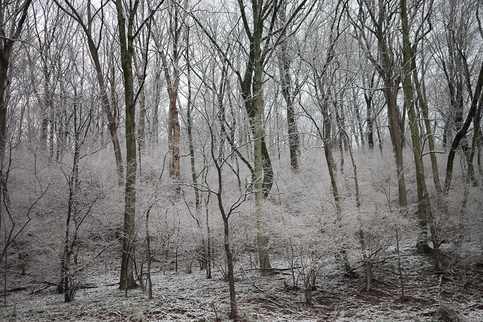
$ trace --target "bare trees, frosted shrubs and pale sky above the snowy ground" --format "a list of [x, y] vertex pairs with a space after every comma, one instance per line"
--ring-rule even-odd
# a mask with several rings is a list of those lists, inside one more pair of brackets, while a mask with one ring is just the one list
[[1, 1], [4, 305], [100, 267], [149, 300], [220, 276], [232, 319], [247, 270], [309, 308], [327, 279], [478, 294], [482, 5]]

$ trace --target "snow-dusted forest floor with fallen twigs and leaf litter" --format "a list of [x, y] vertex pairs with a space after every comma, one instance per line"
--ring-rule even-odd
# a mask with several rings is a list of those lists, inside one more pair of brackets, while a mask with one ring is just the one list
[[[464, 321], [483, 321], [483, 265], [443, 276], [432, 273], [432, 259], [407, 250], [402, 256], [405, 301], [394, 256], [382, 263], [374, 275], [370, 292], [363, 290], [359, 278], [343, 279], [337, 267], [322, 269], [313, 292], [311, 307], [306, 307], [302, 290], [287, 290], [291, 285], [287, 271], [261, 276], [249, 265], [237, 265], [236, 291], [241, 321], [431, 321], [443, 304], [454, 309]], [[273, 266], [282, 263], [272, 263]], [[153, 296], [149, 301], [141, 289], [118, 289], [119, 267], [114, 263], [90, 271], [86, 283], [97, 287], [80, 289], [73, 302], [64, 303], [55, 287], [40, 292], [41, 281], [11, 273], [8, 276], [7, 306], [0, 306], [0, 321], [227, 321], [228, 283], [219, 271], [205, 278], [204, 271], [193, 267], [174, 273], [156, 263], [152, 269]], [[302, 282], [299, 282], [302, 284]], [[15, 290], [16, 287], [24, 287]], [[3, 287], [2, 287], [3, 291]], [[3, 293], [3, 292], [2, 292]], [[2, 301], [3, 302], [3, 301]], [[215, 313], [216, 310], [216, 313]]]

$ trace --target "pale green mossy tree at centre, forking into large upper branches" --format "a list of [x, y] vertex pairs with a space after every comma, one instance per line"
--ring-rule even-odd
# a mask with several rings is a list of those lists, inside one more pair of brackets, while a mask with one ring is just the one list
[[[307, 0], [302, 0], [291, 6], [291, 12], [287, 15], [285, 23], [276, 28], [275, 23], [281, 6], [286, 5], [284, 1], [260, 1], [251, 0], [252, 16], [246, 13], [245, 3], [238, 1], [238, 6], [241, 14], [241, 21], [243, 23], [244, 34], [248, 39], [249, 47], [246, 52], [245, 70], [243, 73], [235, 66], [235, 60], [231, 60], [214, 35], [203, 26], [201, 21], [192, 13], [188, 13], [196, 23], [201, 27], [203, 33], [213, 43], [215, 48], [221, 54], [223, 59], [227, 62], [229, 67], [237, 75], [241, 87], [241, 97], [243, 99], [245, 109], [249, 118], [251, 131], [254, 140], [254, 166], [242, 158], [241, 153], [234, 149], [241, 160], [247, 165], [252, 173], [256, 215], [258, 221], [258, 248], [259, 248], [259, 262], [262, 268], [270, 268], [270, 261], [268, 259], [268, 241], [265, 236], [265, 223], [263, 211], [263, 199], [268, 196], [268, 193], [273, 184], [273, 170], [272, 163], [268, 154], [268, 149], [264, 140], [263, 123], [263, 75], [265, 67], [273, 55], [275, 49], [280, 44], [282, 37], [285, 35], [287, 27], [293, 23], [299, 13], [310, 11], [315, 1], [308, 7], [305, 7]], [[232, 145], [233, 142], [230, 142]], [[233, 148], [233, 145], [232, 145]]]

